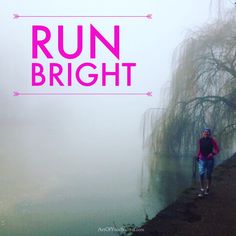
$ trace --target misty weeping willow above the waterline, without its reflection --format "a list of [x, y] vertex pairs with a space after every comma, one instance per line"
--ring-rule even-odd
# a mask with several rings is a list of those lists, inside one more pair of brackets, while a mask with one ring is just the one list
[[164, 156], [195, 152], [204, 127], [221, 146], [233, 145], [236, 129], [236, 15], [191, 33], [176, 50], [166, 110], [152, 132], [155, 151]]

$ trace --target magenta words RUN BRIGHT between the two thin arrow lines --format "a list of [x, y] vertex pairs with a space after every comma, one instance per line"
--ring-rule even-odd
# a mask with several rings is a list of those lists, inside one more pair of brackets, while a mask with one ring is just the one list
[[[42, 37], [43, 35], [43, 37]], [[89, 59], [97, 58], [97, 41], [100, 41], [106, 49], [112, 54], [116, 60], [120, 60], [120, 27], [114, 26], [114, 43], [113, 45], [91, 24], [89, 35]], [[78, 83], [81, 86], [92, 86], [100, 79], [100, 84], [106, 86], [108, 77], [112, 76], [115, 86], [120, 85], [120, 75], [125, 77], [127, 86], [131, 86], [132, 81], [132, 69], [136, 67], [136, 63], [113, 63], [111, 69], [111, 63], [102, 62], [96, 65], [90, 61], [74, 65], [73, 59], [78, 59], [83, 52], [83, 26], [77, 26], [77, 39], [76, 49], [74, 52], [69, 53], [65, 50], [64, 42], [64, 27], [58, 26], [57, 32], [57, 44], [55, 41], [51, 41], [51, 31], [48, 27], [42, 25], [32, 26], [32, 59], [36, 62], [32, 63], [32, 86], [43, 85], [59, 85], [59, 86], [72, 86], [74, 83]], [[39, 52], [41, 57], [46, 57], [47, 60], [53, 60], [53, 53], [55, 54], [55, 48], [52, 45], [57, 46], [56, 53], [63, 59], [66, 59], [66, 63], [58, 63], [50, 61], [45, 66], [40, 63]], [[49, 47], [51, 46], [51, 47]], [[50, 51], [51, 50], [51, 51]], [[40, 57], [40, 58], [41, 58]], [[113, 58], [113, 60], [114, 60]], [[69, 61], [68, 61], [69, 60]], [[61, 61], [61, 60], [60, 60]], [[109, 68], [108, 68], [109, 67]], [[92, 73], [91, 73], [92, 72]]]

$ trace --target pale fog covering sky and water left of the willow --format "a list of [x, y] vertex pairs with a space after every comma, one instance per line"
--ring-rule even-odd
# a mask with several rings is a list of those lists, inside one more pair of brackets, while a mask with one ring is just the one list
[[[214, 17], [210, 1], [0, 1], [0, 232], [2, 235], [96, 235], [98, 227], [140, 224], [162, 207], [158, 196], [143, 199], [142, 116], [162, 101], [172, 53], [191, 29]], [[213, 10], [212, 10], [213, 9]], [[127, 18], [22, 18], [20, 15], [146, 15]], [[68, 50], [76, 26], [84, 27], [84, 52], [73, 65], [89, 61], [89, 25], [112, 42], [120, 25], [120, 62], [135, 62], [132, 86], [96, 84], [85, 88], [31, 86], [32, 25], [56, 35], [64, 25]], [[111, 33], [112, 32], [112, 33]], [[52, 38], [53, 40], [53, 38]], [[67, 61], [50, 44], [55, 62]], [[43, 55], [40, 62], [49, 63]], [[95, 64], [117, 62], [100, 45]], [[20, 92], [153, 92], [147, 96], [19, 96]]]

